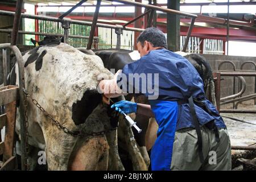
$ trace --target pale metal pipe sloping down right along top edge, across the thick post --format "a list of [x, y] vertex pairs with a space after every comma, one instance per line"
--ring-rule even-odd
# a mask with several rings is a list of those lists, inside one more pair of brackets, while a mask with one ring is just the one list
[[154, 5], [147, 5], [147, 4], [143, 4], [143, 3], [139, 3], [139, 2], [133, 2], [133, 1], [129, 1], [129, 0], [108, 0], [108, 1], [119, 2], [119, 3], [126, 4], [126, 5], [146, 7], [147, 9], [153, 9], [153, 10], [162, 11], [162, 12], [165, 12], [165, 13], [183, 15], [183, 16], [187, 16], [187, 17], [190, 17], [190, 18], [197, 18], [197, 15], [195, 15], [195, 14], [185, 13], [183, 11], [167, 9], [167, 8], [164, 8], [164, 7], [159, 7], [159, 6], [154, 6]]

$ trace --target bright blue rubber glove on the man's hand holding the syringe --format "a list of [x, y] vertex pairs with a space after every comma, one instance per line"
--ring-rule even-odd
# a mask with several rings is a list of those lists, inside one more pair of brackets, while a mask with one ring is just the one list
[[137, 112], [137, 103], [135, 102], [130, 102], [130, 101], [119, 101], [116, 102], [111, 106], [111, 108], [114, 108], [116, 111], [119, 111], [121, 113], [121, 110], [125, 114], [130, 114], [130, 113], [136, 113]]

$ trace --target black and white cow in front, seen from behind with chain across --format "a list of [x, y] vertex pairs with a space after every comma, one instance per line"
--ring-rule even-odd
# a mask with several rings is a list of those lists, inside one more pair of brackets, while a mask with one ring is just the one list
[[[102, 95], [96, 90], [98, 77], [102, 74], [113, 77], [100, 57], [86, 55], [68, 44], [51, 43], [27, 51], [23, 61], [27, 92], [62, 126], [81, 133], [109, 131], [99, 136], [73, 137], [55, 126], [28, 100], [28, 144], [30, 148], [46, 151], [48, 169], [125, 169], [118, 155], [117, 130], [110, 131], [122, 117], [102, 102]], [[15, 65], [9, 77], [10, 84], [19, 84], [17, 73]], [[130, 127], [120, 122], [121, 125], [128, 148], [138, 154], [133, 156], [134, 168], [146, 169], [140, 151], [132, 144]], [[19, 126], [18, 110], [18, 135]]]

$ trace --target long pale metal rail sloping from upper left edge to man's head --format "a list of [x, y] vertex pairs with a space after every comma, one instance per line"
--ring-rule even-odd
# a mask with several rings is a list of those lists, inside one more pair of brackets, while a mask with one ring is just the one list
[[[14, 12], [11, 11], [3, 11], [0, 10], [0, 15], [7, 15], [7, 16], [14, 16]], [[29, 18], [29, 19], [40, 19], [40, 20], [49, 20], [53, 22], [61, 22], [61, 19], [51, 17], [51, 16], [41, 16], [41, 15], [30, 15], [30, 14], [21, 14], [22, 18]], [[81, 20], [74, 20], [74, 19], [67, 19], [68, 22], [70, 23], [75, 23], [75, 24], [84, 24], [84, 25], [92, 25], [92, 22], [86, 22], [86, 21], [81, 21]], [[105, 28], [119, 28], [118, 25], [112, 25], [112, 24], [104, 24], [104, 23], [97, 23], [98, 27], [105, 27]], [[125, 30], [131, 30], [131, 31], [144, 31], [142, 28], [134, 28], [134, 27], [125, 27], [123, 28]]]

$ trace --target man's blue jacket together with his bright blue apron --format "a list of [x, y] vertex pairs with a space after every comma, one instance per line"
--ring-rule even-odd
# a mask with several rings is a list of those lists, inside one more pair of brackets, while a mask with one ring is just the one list
[[[122, 73], [126, 75], [127, 88], [135, 85], [135, 78], [129, 79], [129, 73], [159, 74], [158, 83], [151, 79], [154, 88], [159, 87], [159, 96], [155, 100], [149, 99], [159, 126], [157, 139], [151, 150], [152, 170], [170, 170], [175, 131], [195, 127], [191, 121], [189, 104], [177, 104], [177, 101], [187, 100], [191, 96], [200, 98], [211, 111], [209, 115], [207, 111], [195, 105], [200, 126], [214, 121], [218, 129], [226, 128], [216, 108], [205, 98], [203, 80], [199, 73], [183, 56], [167, 49], [156, 49], [141, 59], [126, 64]], [[122, 78], [118, 77], [118, 82], [121, 80]], [[137, 87], [133, 90], [139, 90], [146, 97], [152, 94], [151, 92], [143, 93], [141, 84]]]

